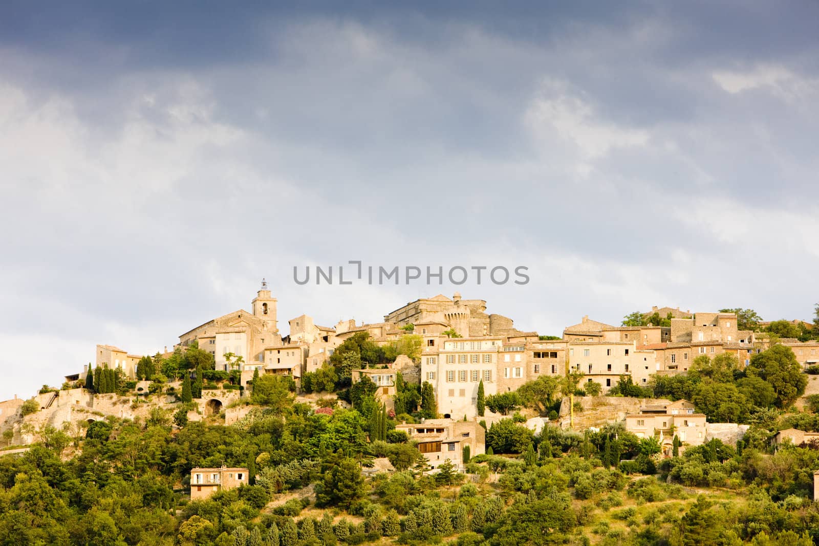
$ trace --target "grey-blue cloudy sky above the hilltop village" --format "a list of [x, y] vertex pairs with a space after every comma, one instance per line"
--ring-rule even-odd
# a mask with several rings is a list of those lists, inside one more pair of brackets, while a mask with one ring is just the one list
[[[812, 318], [817, 2], [438, 3], [3, 2], [0, 399], [261, 278], [285, 331], [455, 290]], [[351, 259], [531, 281], [293, 282]]]

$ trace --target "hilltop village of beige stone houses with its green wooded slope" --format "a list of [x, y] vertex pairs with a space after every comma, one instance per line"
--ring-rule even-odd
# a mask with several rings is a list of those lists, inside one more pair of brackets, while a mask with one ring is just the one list
[[[737, 504], [731, 544], [813, 544], [812, 323], [654, 307], [550, 336], [455, 292], [379, 323], [302, 314], [284, 333], [265, 282], [249, 309], [152, 355], [97, 345], [61, 388], [0, 402], [0, 494], [38, 472], [66, 514], [97, 507], [49, 481], [65, 465], [102, 497], [142, 499], [58, 536], [26, 508], [27, 529], [2, 514], [0, 529], [20, 544], [77, 544], [100, 518], [110, 540], [84, 544], [719, 544], [697, 495], [722, 488], [784, 518], [750, 528]], [[129, 527], [143, 509], [156, 532]]]

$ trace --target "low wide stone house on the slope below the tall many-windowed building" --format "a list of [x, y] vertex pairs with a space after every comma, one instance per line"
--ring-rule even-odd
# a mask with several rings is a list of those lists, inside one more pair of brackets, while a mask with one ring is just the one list
[[426, 419], [417, 424], [396, 425], [396, 431], [404, 431], [409, 440], [415, 440], [418, 450], [437, 468], [450, 460], [456, 467], [464, 466], [464, 446], [469, 446], [469, 456], [486, 452], [486, 431], [474, 421], [455, 419]]

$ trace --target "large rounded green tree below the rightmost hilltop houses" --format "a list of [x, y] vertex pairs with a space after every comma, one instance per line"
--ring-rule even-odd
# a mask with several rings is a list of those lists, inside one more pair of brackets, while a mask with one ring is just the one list
[[760, 377], [771, 384], [779, 408], [793, 404], [808, 386], [808, 378], [803, 374], [794, 351], [785, 345], [773, 345], [762, 353], [754, 354], [745, 373], [748, 377]]

